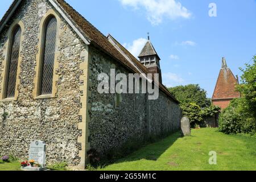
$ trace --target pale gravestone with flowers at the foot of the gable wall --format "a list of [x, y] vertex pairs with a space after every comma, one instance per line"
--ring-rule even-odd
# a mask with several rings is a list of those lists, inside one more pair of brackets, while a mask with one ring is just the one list
[[42, 141], [34, 141], [30, 143], [29, 158], [28, 160], [35, 160], [36, 163], [40, 164], [40, 168], [35, 167], [24, 167], [24, 171], [44, 171], [46, 170], [46, 143]]

